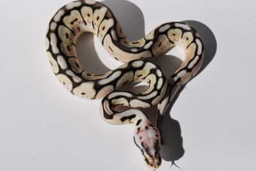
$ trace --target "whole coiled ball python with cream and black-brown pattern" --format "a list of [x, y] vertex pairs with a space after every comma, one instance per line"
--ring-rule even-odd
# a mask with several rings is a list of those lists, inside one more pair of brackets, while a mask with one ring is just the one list
[[[108, 54], [124, 64], [116, 70], [95, 75], [84, 70], [76, 55], [77, 38], [85, 32], [95, 34]], [[172, 47], [184, 49], [185, 59], [170, 77], [151, 61]], [[129, 40], [107, 6], [85, 0], [68, 3], [58, 10], [47, 27], [45, 47], [52, 70], [72, 94], [88, 99], [103, 98], [102, 118], [111, 124], [133, 123], [134, 143], [149, 168], [161, 165], [161, 135], [140, 108], [157, 105], [163, 115], [182, 85], [198, 72], [204, 61], [204, 45], [193, 27], [167, 22], [137, 41]], [[142, 93], [121, 91], [125, 85], [146, 82]], [[117, 110], [116, 107], [132, 107]]]

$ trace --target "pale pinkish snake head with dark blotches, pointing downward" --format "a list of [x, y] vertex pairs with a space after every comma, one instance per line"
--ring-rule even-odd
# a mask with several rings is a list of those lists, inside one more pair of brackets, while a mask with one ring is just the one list
[[160, 133], [152, 124], [136, 126], [134, 143], [139, 147], [144, 161], [149, 168], [158, 168], [161, 165]]

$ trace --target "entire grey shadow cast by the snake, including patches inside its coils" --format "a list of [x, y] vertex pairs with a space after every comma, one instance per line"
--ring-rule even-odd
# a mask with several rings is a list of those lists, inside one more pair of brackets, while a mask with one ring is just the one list
[[[139, 38], [145, 36], [144, 16], [136, 4], [126, 0], [106, 0], [101, 1], [100, 3], [106, 4], [106, 6], [108, 6], [113, 13], [115, 13], [115, 16], [119, 20], [127, 38], [130, 40], [138, 40]], [[212, 59], [214, 58], [217, 50], [216, 38], [211, 29], [209, 29], [209, 27], [202, 22], [195, 20], [184, 20], [182, 22], [194, 27], [196, 31], [198, 31], [198, 34], [200, 34], [204, 43], [205, 60], [202, 68], [196, 74], [197, 76], [199, 73], [205, 70], [207, 65], [211, 63]], [[78, 59], [83, 68], [86, 68], [86, 70], [92, 73], [106, 73], [107, 71], [110, 71], [110, 69], [104, 63], [102, 63], [97, 55], [93, 42], [94, 38], [95, 36], [92, 33], [85, 33], [79, 37], [76, 47]], [[106, 56], [109, 55], [106, 53]], [[159, 64], [159, 66], [163, 68], [167, 77], [170, 77], [182, 63], [182, 60], [180, 60], [179, 57], [170, 56], [168, 54], [152, 59], [151, 61]], [[184, 87], [185, 86], [186, 85], [184, 85]], [[170, 115], [170, 111], [172, 110], [175, 101], [179, 97], [179, 94], [182, 92], [184, 87], [182, 87], [176, 94], [172, 103], [168, 107], [168, 110], [166, 110], [166, 114], [164, 114], [163, 121], [161, 122], [160, 129], [164, 140], [164, 144], [161, 147], [161, 156], [165, 161], [179, 160], [182, 158], [185, 152], [180, 123], [179, 121], [173, 119]], [[136, 89], [137, 91], [143, 91], [145, 90], [145, 85], [139, 85], [136, 87]], [[143, 111], [148, 115], [152, 123], [156, 123], [156, 107], [145, 108]]]

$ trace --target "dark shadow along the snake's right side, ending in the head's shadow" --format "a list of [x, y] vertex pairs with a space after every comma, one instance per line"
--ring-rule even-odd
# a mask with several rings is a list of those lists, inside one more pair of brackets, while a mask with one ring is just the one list
[[[204, 63], [202, 64], [202, 67], [195, 75], [196, 77], [203, 70], [205, 70], [205, 68], [208, 66], [209, 63], [211, 63], [212, 59], [214, 58], [217, 50], [217, 41], [211, 29], [202, 22], [198, 22], [195, 20], [184, 20], [182, 22], [185, 22], [189, 26], [194, 27], [196, 31], [198, 31], [198, 34], [200, 35], [204, 43], [205, 59]], [[165, 63], [165, 65], [167, 66], [163, 66], [163, 68], [168, 67], [168, 64]], [[181, 136], [181, 128], [179, 121], [173, 119], [170, 114], [170, 111], [172, 110], [175, 101], [179, 97], [184, 87], [186, 87], [186, 84], [176, 94], [172, 103], [168, 107], [168, 110], [166, 110], [166, 114], [164, 114], [163, 121], [161, 122], [161, 133], [164, 141], [164, 144], [161, 147], [161, 156], [163, 160], [166, 161], [179, 160], [180, 158], [182, 158], [185, 152], [184, 147], [182, 145], [183, 138]]]

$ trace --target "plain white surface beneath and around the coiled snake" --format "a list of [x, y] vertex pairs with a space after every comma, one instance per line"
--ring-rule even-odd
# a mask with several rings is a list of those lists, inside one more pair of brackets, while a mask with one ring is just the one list
[[[69, 2], [1, 2], [0, 170], [150, 170], [132, 140], [131, 124], [106, 123], [99, 114], [100, 100], [73, 96], [52, 73], [45, 54], [45, 29], [54, 13]], [[168, 161], [163, 160], [157, 170], [180, 170], [170, 168], [175, 157], [186, 171], [255, 170], [256, 1], [103, 3], [132, 40], [171, 21], [187, 22], [204, 34], [208, 64], [166, 114], [172, 121], [165, 134], [173, 139], [165, 142], [170, 146], [163, 147]], [[82, 36], [77, 45], [88, 70], [100, 73], [120, 66], [92, 38], [92, 34]], [[179, 56], [179, 48], [168, 55], [155, 61], [172, 72], [177, 60], [170, 55]], [[179, 154], [182, 148], [172, 149], [179, 145], [184, 155]]]

